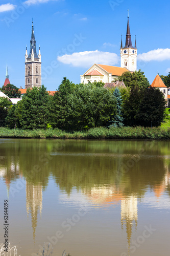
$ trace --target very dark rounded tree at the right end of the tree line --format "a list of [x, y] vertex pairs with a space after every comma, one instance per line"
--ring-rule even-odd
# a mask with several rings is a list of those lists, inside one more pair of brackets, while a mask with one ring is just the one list
[[158, 88], [144, 90], [137, 114], [141, 126], [159, 126], [165, 118], [166, 100]]

